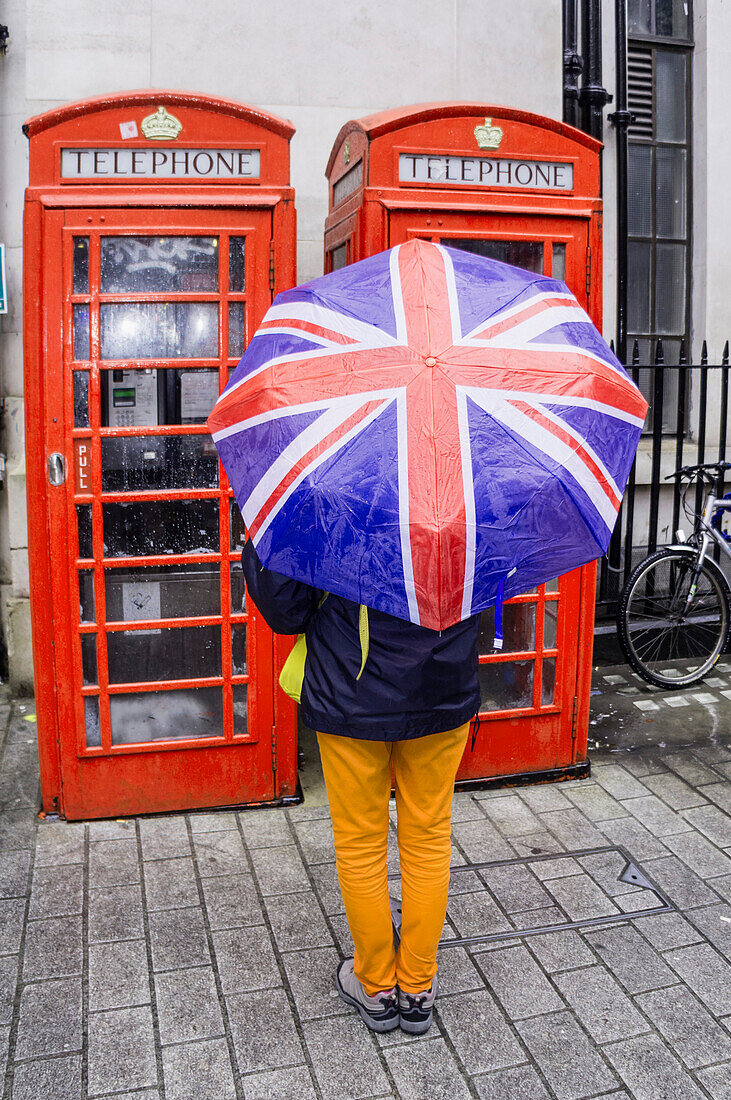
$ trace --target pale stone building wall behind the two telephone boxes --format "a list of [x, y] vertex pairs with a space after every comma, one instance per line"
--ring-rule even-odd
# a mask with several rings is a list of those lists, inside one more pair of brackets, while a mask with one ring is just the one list
[[[23, 122], [69, 101], [129, 89], [199, 91], [288, 118], [298, 217], [298, 280], [322, 273], [325, 165], [341, 125], [428, 101], [505, 105], [561, 119], [560, 0], [397, 0], [336, 7], [281, 0], [246, 9], [212, 0], [7, 0], [0, 56], [0, 241], [9, 307], [1, 318], [0, 618], [8, 672], [32, 683], [22, 353]], [[589, 6], [585, 4], [585, 8]], [[613, 0], [602, 0], [601, 80], [614, 92]], [[673, 353], [728, 332], [731, 258], [723, 78], [731, 7], [629, 0], [628, 336]], [[614, 337], [617, 129], [603, 109], [605, 334]]]

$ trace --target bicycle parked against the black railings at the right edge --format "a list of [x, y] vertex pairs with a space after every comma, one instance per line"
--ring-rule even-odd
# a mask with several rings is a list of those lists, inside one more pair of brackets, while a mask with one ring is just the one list
[[[731, 494], [718, 497], [715, 485], [731, 462], [680, 466], [665, 481], [687, 480], [683, 510], [693, 535], [655, 551], [631, 573], [619, 603], [617, 628], [627, 660], [657, 688], [699, 683], [724, 652], [731, 626], [729, 584], [709, 551], [718, 546], [731, 560], [731, 538], [722, 530]], [[708, 486], [698, 514], [686, 501], [696, 482]]]

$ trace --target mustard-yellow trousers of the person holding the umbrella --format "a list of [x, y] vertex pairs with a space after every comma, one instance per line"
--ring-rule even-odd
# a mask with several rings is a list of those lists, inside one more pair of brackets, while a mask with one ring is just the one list
[[[355, 975], [373, 996], [429, 989], [450, 886], [454, 778], [469, 723], [408, 741], [318, 734], [337, 878], [355, 944]], [[401, 944], [394, 949], [386, 849], [391, 771], [401, 861]]]

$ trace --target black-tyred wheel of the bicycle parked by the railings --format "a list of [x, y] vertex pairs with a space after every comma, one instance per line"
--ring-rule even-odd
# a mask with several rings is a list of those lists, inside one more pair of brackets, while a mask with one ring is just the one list
[[687, 612], [697, 556], [658, 550], [630, 576], [619, 604], [619, 640], [635, 672], [658, 688], [689, 688], [729, 640], [729, 591], [706, 562]]

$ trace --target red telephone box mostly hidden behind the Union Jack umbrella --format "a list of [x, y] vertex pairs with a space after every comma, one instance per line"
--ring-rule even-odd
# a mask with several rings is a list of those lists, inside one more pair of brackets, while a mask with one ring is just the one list
[[[527, 111], [431, 103], [345, 123], [328, 163], [325, 271], [422, 238], [565, 280], [601, 327], [599, 142]], [[457, 780], [588, 772], [595, 565], [484, 612], [484, 711]]]

